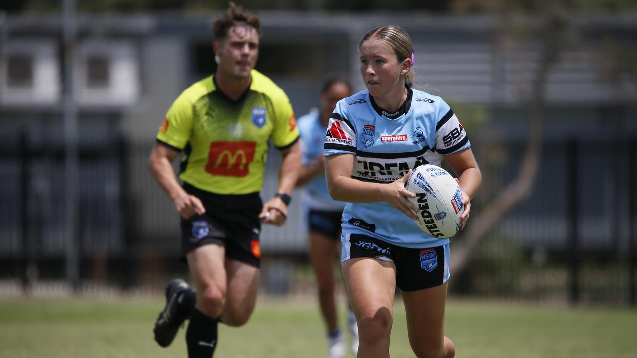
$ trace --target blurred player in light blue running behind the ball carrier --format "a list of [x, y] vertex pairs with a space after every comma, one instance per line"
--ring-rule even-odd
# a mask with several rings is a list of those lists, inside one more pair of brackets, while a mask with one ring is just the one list
[[[304, 186], [303, 210], [307, 214], [310, 262], [317, 278], [318, 303], [327, 326], [329, 358], [345, 357], [346, 354], [343, 333], [338, 326], [334, 280], [334, 259], [336, 250], [340, 251], [341, 246], [339, 237], [345, 203], [334, 201], [329, 196], [323, 142], [336, 103], [351, 95], [352, 86], [345, 78], [331, 76], [323, 83], [319, 93], [320, 111], [310, 111], [297, 122], [303, 153], [297, 186]], [[347, 319], [355, 355], [358, 350], [358, 327], [349, 306]]]

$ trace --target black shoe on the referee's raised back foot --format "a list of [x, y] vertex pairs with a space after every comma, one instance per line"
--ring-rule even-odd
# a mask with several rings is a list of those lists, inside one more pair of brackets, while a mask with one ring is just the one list
[[168, 282], [166, 286], [166, 307], [159, 313], [155, 329], [153, 329], [155, 341], [161, 347], [168, 347], [172, 343], [179, 326], [187, 319], [177, 312], [177, 297], [187, 289], [189, 289], [188, 283], [181, 278]]

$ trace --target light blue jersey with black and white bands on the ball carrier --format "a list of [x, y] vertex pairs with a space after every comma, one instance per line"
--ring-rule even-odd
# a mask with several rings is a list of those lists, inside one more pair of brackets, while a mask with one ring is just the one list
[[[352, 178], [391, 183], [420, 164], [440, 166], [443, 155], [469, 148], [469, 138], [443, 99], [408, 89], [402, 108], [386, 113], [364, 90], [342, 99], [328, 125], [324, 154], [354, 154]], [[372, 236], [403, 247], [449, 242], [419, 229], [389, 203], [350, 203], [343, 211], [343, 235]]]

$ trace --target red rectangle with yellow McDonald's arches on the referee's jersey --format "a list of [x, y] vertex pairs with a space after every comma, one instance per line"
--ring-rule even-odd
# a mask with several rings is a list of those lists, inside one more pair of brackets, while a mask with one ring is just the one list
[[206, 171], [213, 175], [246, 176], [256, 147], [254, 141], [213, 141]]

